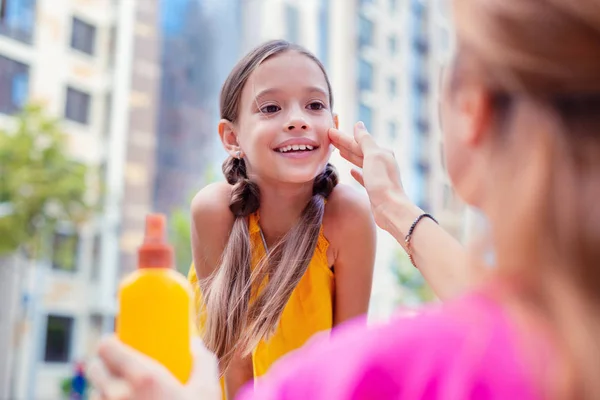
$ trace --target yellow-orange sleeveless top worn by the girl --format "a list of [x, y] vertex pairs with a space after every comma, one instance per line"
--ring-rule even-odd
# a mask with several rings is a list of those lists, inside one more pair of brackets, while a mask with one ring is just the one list
[[[250, 246], [252, 251], [251, 268], [255, 268], [265, 257], [258, 212], [248, 218]], [[252, 351], [252, 365], [255, 379], [265, 374], [281, 356], [301, 347], [311, 336], [333, 326], [334, 276], [327, 262], [329, 242], [319, 231], [317, 246], [304, 276], [292, 292], [285, 306], [279, 325], [268, 341], [262, 340]], [[190, 268], [188, 279], [194, 287], [196, 310], [203, 310], [202, 294], [194, 266]], [[199, 313], [202, 315], [202, 312]], [[198, 328], [203, 330], [204, 318], [198, 318]]]

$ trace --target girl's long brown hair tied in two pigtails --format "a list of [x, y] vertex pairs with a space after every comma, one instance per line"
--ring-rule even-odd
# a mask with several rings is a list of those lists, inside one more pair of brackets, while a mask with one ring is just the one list
[[[242, 91], [252, 72], [265, 60], [287, 51], [303, 54], [321, 68], [327, 81], [331, 109], [331, 85], [321, 62], [304, 48], [277, 40], [257, 47], [233, 69], [221, 91], [222, 118], [237, 121]], [[328, 164], [315, 178], [313, 196], [300, 220], [251, 270], [248, 216], [260, 206], [260, 190], [248, 179], [242, 158], [228, 158], [223, 163], [223, 174], [233, 186], [229, 208], [235, 215], [235, 222], [221, 265], [202, 282], [206, 304], [204, 341], [219, 358], [222, 372], [236, 351], [249, 353], [275, 329], [292, 291], [310, 263], [323, 221], [325, 199], [338, 182], [335, 168]], [[257, 293], [255, 290], [259, 285], [264, 286]]]

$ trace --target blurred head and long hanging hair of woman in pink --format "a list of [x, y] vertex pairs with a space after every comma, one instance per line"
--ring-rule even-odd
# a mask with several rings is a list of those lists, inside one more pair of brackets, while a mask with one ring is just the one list
[[[449, 175], [489, 217], [499, 271], [544, 299], [573, 359], [594, 371], [600, 350], [589, 335], [600, 327], [590, 317], [584, 328], [577, 311], [600, 306], [600, 1], [453, 3], [457, 51], [442, 101]], [[557, 287], [579, 300], [548, 295]], [[586, 306], [565, 309], [578, 302]]]

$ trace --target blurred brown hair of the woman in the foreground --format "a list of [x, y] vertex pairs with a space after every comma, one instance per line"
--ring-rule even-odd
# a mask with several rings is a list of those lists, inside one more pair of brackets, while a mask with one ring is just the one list
[[[506, 281], [508, 270], [519, 268], [511, 286], [520, 308], [541, 317], [565, 361], [561, 376], [544, 377], [540, 389], [550, 397], [600, 398], [600, 1], [454, 4], [452, 84], [482, 81], [498, 138], [535, 133], [542, 145], [533, 161], [548, 167], [537, 190], [511, 205], [523, 217], [506, 232], [518, 251], [498, 268]], [[538, 119], [519, 126], [523, 113]]]

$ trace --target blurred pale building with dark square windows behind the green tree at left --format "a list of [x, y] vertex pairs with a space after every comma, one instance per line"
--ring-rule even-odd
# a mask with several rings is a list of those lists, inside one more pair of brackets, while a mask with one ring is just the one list
[[112, 329], [115, 279], [133, 266], [151, 208], [157, 16], [154, 0], [0, 1], [0, 124], [27, 101], [44, 104], [105, 182], [102, 214], [60, 226], [49, 259], [21, 271], [2, 398], [60, 398], [73, 364]]

